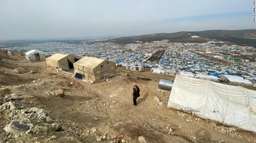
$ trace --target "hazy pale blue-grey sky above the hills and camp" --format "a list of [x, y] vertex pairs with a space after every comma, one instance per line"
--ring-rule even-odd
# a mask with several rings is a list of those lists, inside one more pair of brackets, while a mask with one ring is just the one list
[[256, 29], [252, 0], [0, 0], [0, 40]]

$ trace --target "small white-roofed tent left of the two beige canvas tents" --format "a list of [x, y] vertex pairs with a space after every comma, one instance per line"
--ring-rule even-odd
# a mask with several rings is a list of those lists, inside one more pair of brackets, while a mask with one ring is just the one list
[[29, 61], [45, 60], [45, 53], [38, 50], [31, 50], [25, 53], [25, 57]]

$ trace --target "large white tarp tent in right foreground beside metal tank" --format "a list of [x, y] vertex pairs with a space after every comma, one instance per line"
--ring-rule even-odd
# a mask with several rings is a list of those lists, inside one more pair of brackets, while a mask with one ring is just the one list
[[177, 74], [167, 106], [256, 133], [254, 90]]

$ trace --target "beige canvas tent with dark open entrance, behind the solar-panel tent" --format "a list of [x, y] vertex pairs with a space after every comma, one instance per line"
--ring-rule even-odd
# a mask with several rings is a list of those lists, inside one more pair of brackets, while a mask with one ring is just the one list
[[48, 67], [61, 68], [63, 71], [74, 68], [73, 63], [81, 59], [79, 56], [70, 54], [54, 54], [46, 58], [46, 64]]

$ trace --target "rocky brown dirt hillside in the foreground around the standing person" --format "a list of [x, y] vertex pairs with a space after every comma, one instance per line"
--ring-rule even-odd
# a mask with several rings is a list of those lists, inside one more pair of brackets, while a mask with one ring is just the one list
[[167, 108], [170, 92], [158, 81], [175, 77], [117, 68], [108, 81], [90, 84], [0, 52], [1, 143], [256, 142], [252, 133]]

